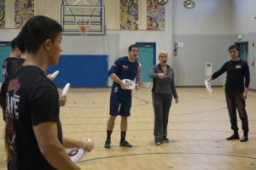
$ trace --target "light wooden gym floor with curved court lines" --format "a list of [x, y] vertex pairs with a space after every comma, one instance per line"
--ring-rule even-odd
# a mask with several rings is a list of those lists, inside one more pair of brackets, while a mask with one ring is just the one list
[[[79, 161], [91, 170], [250, 170], [256, 169], [256, 92], [249, 91], [247, 115], [249, 141], [227, 141], [232, 133], [223, 88], [177, 88], [180, 102], [172, 102], [169, 116], [170, 143], [154, 145], [154, 112], [149, 88], [133, 93], [126, 139], [131, 149], [119, 147], [116, 120], [111, 149], [103, 147], [106, 138], [110, 88], [74, 88], [67, 105], [61, 108], [65, 136], [95, 141], [95, 149]], [[239, 118], [238, 118], [239, 119]], [[0, 131], [3, 132], [3, 120]], [[238, 122], [241, 128], [241, 122]], [[242, 132], [240, 131], [240, 136]], [[3, 133], [0, 137], [0, 170], [6, 169]]]

